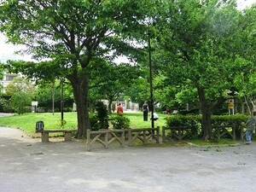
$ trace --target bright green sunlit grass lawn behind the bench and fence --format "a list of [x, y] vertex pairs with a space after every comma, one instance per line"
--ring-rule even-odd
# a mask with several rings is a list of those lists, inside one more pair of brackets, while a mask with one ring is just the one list
[[[113, 113], [115, 115], [115, 113]], [[64, 129], [76, 129], [77, 113], [64, 113], [64, 120], [67, 122]], [[131, 120], [132, 128], [149, 128], [151, 127], [151, 120], [148, 115], [148, 121], [143, 121], [143, 113], [124, 113], [124, 116]], [[159, 114], [160, 119], [154, 121], [154, 127], [166, 125], [166, 114]], [[15, 114], [14, 116], [0, 118], [0, 125], [9, 127], [20, 127], [23, 130], [34, 133], [36, 129], [36, 122], [38, 120], [44, 121], [44, 129], [61, 129], [61, 113], [24, 113]], [[109, 122], [109, 125], [111, 123]]]

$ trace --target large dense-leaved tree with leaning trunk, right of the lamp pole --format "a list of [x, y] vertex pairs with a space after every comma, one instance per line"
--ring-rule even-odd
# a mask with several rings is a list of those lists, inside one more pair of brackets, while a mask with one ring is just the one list
[[177, 0], [167, 1], [155, 22], [161, 79], [177, 90], [197, 91], [205, 140], [214, 140], [211, 115], [229, 98], [227, 90], [235, 91], [233, 77], [241, 72], [233, 70], [246, 44], [241, 18], [233, 1]]

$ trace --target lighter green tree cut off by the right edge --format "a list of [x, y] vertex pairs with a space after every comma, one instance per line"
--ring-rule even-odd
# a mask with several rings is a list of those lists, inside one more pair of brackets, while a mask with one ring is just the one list
[[236, 55], [236, 66], [234, 70], [239, 70], [234, 77], [236, 86], [236, 96], [241, 99], [242, 103], [247, 103], [248, 112], [253, 114], [256, 110], [256, 72], [255, 72], [255, 39], [256, 39], [256, 5], [246, 9], [241, 20], [241, 38], [240, 55]]

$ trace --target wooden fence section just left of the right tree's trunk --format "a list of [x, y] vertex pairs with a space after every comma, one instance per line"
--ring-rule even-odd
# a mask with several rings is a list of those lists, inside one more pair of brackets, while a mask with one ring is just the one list
[[183, 137], [186, 137], [190, 133], [190, 128], [187, 126], [171, 126], [162, 128], [163, 143], [166, 143], [166, 130], [171, 131], [171, 137], [177, 138], [178, 141], [182, 141]]

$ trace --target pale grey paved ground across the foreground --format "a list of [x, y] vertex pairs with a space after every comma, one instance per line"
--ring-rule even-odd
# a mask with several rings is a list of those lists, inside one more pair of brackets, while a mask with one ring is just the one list
[[[51, 140], [51, 139], [50, 139]], [[41, 143], [0, 127], [1, 192], [255, 191], [256, 144], [236, 147]]]

